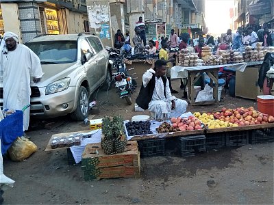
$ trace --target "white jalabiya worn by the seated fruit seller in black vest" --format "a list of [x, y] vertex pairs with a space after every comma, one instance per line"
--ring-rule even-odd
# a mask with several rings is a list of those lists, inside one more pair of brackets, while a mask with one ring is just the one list
[[[151, 71], [147, 70], [142, 76], [142, 82], [146, 87], [152, 78]], [[175, 100], [175, 109], [171, 109], [172, 102]], [[149, 111], [155, 113], [155, 120], [163, 118], [177, 118], [186, 112], [188, 102], [180, 100], [171, 95], [169, 89], [169, 81], [166, 81], [166, 96], [164, 96], [164, 82], [162, 78], [155, 77], [155, 88], [153, 91], [151, 102], [149, 102]]]

